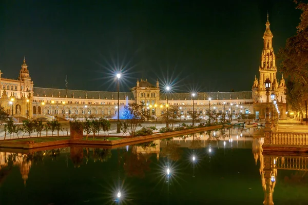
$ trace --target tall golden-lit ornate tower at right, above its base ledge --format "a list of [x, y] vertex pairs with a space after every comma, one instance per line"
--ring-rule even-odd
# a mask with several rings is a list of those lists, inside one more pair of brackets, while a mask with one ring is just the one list
[[[276, 95], [276, 99], [285, 103], [285, 84], [284, 79], [282, 78], [283, 83], [278, 83], [276, 73], [276, 57], [274, 54], [273, 48], [273, 33], [271, 29], [269, 29], [269, 21], [268, 21], [268, 13], [267, 13], [267, 21], [266, 28], [263, 34], [263, 50], [261, 54], [261, 65], [259, 66], [260, 78], [259, 81], [255, 77], [255, 81], [253, 84], [253, 99], [255, 103], [265, 103], [266, 102], [266, 91], [264, 81], [266, 78], [269, 78], [272, 81], [272, 89], [271, 92], [274, 92]], [[257, 84], [258, 82], [258, 84]], [[282, 99], [282, 101], [281, 101]]]

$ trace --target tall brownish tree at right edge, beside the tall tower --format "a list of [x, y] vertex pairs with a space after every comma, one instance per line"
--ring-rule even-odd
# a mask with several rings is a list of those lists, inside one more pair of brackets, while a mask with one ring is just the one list
[[[308, 98], [308, 4], [297, 3], [302, 11], [297, 34], [286, 40], [278, 53], [281, 72], [288, 78], [286, 98], [289, 109], [303, 116]], [[305, 108], [306, 109], [306, 108]]]

